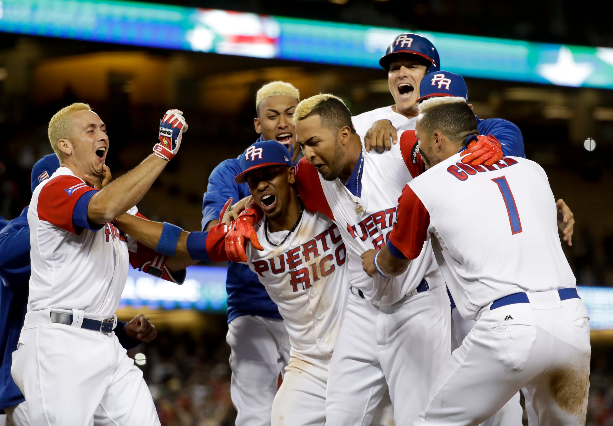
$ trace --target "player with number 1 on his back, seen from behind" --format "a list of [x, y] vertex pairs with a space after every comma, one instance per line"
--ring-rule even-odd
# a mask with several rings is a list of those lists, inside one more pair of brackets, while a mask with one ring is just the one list
[[[415, 425], [479, 424], [522, 388], [530, 424], [585, 424], [588, 313], [560, 246], [547, 175], [521, 157], [462, 162], [466, 139], [491, 139], [477, 133], [465, 99], [422, 103], [416, 135], [428, 170], [403, 190], [387, 244], [362, 256], [365, 272], [388, 280], [431, 240], [457, 309], [477, 320]], [[468, 201], [465, 191], [482, 197]], [[465, 224], [476, 217], [490, 238], [471, 235]]]

